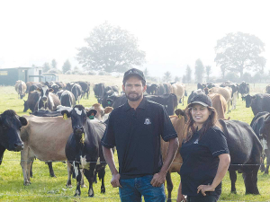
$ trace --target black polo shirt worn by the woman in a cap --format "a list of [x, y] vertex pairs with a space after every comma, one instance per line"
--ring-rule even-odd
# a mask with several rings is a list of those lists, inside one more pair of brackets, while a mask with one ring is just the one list
[[[200, 131], [192, 138], [183, 142], [180, 154], [183, 158], [180, 175], [182, 194], [187, 196], [202, 196], [197, 194], [200, 185], [211, 184], [219, 166], [219, 155], [229, 154], [226, 137], [219, 127], [210, 127], [199, 139]], [[221, 183], [215, 191], [206, 192], [209, 195], [220, 195]]]

